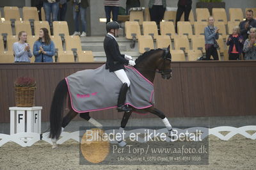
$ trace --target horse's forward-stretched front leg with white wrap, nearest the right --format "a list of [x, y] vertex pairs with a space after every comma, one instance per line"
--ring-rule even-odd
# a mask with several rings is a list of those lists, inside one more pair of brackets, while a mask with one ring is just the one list
[[[166, 118], [166, 116], [164, 115], [164, 113], [162, 111], [159, 111], [158, 109], [156, 109], [155, 107], [148, 107], [147, 109], [145, 109], [148, 112], [151, 112], [152, 114], [155, 114], [156, 116], [158, 116], [159, 118], [161, 118], [161, 120], [163, 121], [165, 127], [168, 130], [168, 137], [170, 137], [171, 139], [173, 139], [172, 137], [172, 125], [170, 124], [170, 122], [168, 121], [168, 119]], [[169, 141], [169, 140], [167, 140]]]

